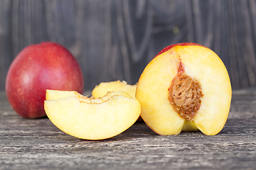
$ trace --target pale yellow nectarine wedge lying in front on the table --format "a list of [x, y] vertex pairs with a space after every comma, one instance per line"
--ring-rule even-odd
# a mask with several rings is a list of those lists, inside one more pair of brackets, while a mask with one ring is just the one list
[[46, 114], [63, 132], [85, 140], [104, 140], [119, 135], [139, 118], [141, 106], [124, 91], [102, 98], [87, 98], [76, 91], [47, 90]]

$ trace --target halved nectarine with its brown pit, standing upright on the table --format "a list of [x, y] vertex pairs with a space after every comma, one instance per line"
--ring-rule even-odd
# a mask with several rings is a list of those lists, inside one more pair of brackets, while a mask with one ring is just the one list
[[[178, 82], [181, 72], [186, 76]], [[172, 93], [172, 88], [179, 92]], [[218, 55], [203, 45], [183, 43], [166, 47], [149, 62], [136, 98], [144, 122], [159, 135], [197, 129], [215, 135], [228, 118], [231, 94], [230, 78]], [[182, 115], [181, 110], [188, 113]]]

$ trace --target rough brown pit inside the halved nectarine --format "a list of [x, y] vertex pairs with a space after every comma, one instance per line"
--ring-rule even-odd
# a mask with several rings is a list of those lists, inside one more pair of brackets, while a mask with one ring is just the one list
[[203, 97], [199, 82], [186, 74], [183, 64], [178, 66], [178, 74], [169, 87], [169, 101], [181, 118], [193, 120], [201, 106]]

